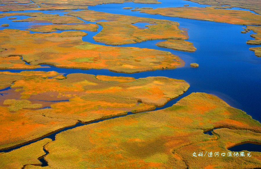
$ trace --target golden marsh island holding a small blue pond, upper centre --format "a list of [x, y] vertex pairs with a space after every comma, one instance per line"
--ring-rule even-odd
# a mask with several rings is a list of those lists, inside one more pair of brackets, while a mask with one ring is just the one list
[[[107, 20], [108, 22], [98, 22], [103, 30], [93, 37], [97, 42], [111, 45], [122, 45], [139, 43], [155, 39], [187, 39], [186, 31], [178, 28], [179, 23], [160, 19], [141, 18], [136, 16], [126, 16], [83, 10], [69, 12], [66, 15], [77, 16], [87, 21]], [[140, 29], [132, 24], [148, 23], [148, 29]], [[153, 24], [153, 25], [149, 25]]]

